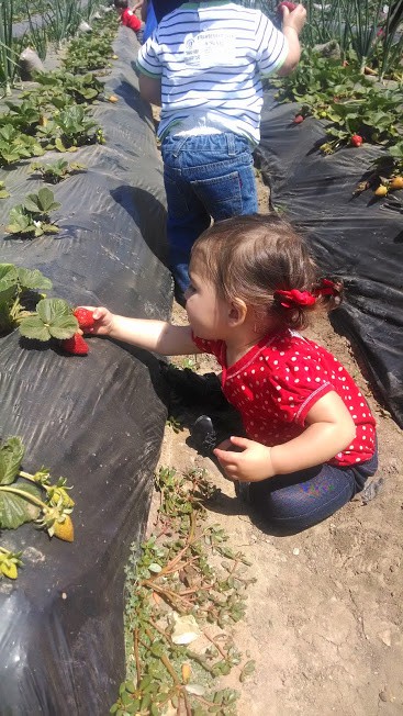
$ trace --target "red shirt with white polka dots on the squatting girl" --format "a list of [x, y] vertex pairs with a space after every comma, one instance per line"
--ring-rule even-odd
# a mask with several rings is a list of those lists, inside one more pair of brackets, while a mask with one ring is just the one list
[[203, 353], [223, 368], [222, 388], [240, 413], [247, 436], [269, 447], [298, 437], [311, 407], [331, 391], [342, 398], [356, 424], [356, 437], [328, 462], [350, 466], [369, 460], [376, 448], [376, 422], [358, 385], [336, 358], [292, 331], [265, 336], [233, 366], [222, 340], [193, 335]]

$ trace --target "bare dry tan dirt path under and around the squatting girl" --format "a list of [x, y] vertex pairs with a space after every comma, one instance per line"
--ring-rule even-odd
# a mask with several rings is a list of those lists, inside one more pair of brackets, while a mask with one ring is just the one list
[[[259, 191], [260, 211], [267, 211], [266, 190]], [[178, 305], [173, 321], [186, 321]], [[233, 483], [187, 445], [187, 429], [167, 427], [160, 465], [208, 471], [221, 491], [208, 521], [220, 523], [228, 545], [253, 562], [246, 617], [233, 629], [237, 647], [256, 660], [255, 673], [233, 684], [240, 691], [239, 716], [403, 715], [402, 430], [328, 320], [309, 335], [346, 365], [376, 414], [384, 484], [374, 500], [365, 505], [357, 496], [302, 534], [273, 537], [254, 523]], [[186, 365], [183, 358], [173, 362]], [[197, 372], [214, 369], [211, 357], [197, 357]]]

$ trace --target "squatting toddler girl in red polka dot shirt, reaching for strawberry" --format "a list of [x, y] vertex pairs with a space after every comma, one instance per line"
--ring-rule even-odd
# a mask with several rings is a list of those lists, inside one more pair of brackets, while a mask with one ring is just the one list
[[247, 483], [271, 527], [305, 529], [362, 490], [377, 470], [376, 422], [361, 391], [327, 350], [303, 337], [336, 284], [317, 280], [304, 243], [276, 215], [214, 224], [195, 242], [188, 326], [125, 318], [96, 309], [90, 331], [163, 355], [210, 353], [247, 437], [214, 456]]

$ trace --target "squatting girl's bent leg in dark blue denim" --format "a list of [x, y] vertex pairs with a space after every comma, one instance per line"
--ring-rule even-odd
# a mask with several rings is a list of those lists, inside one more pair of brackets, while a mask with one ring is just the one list
[[278, 533], [292, 534], [312, 527], [333, 515], [362, 490], [374, 474], [377, 454], [359, 468], [332, 465], [311, 468], [289, 476], [253, 482], [253, 507]]

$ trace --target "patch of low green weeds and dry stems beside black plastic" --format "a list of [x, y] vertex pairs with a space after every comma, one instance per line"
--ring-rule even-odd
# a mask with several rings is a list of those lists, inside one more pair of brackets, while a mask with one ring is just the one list
[[255, 581], [249, 562], [219, 525], [203, 524], [214, 493], [204, 471], [160, 468], [156, 490], [156, 530], [127, 567], [128, 673], [111, 714], [232, 716], [238, 694], [225, 676], [236, 670], [242, 682], [255, 668], [228, 634]]

